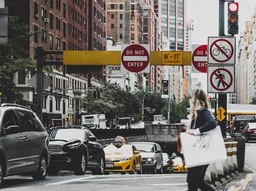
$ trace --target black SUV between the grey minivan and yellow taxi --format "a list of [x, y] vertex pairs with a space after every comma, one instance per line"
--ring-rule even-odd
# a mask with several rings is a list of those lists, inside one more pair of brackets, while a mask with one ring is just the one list
[[82, 126], [51, 128], [49, 133], [51, 163], [48, 175], [57, 175], [59, 170], [74, 171], [76, 175], [104, 174], [105, 153], [92, 132]]

